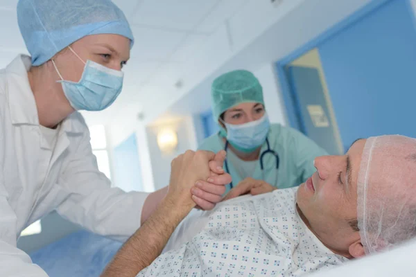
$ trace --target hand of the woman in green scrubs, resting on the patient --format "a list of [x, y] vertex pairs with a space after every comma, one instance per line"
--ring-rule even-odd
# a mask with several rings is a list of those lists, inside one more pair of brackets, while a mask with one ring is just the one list
[[223, 201], [232, 199], [234, 197], [239, 197], [241, 195], [246, 195], [248, 193], [251, 195], [271, 193], [273, 190], [277, 190], [277, 188], [268, 184], [266, 181], [256, 180], [248, 177], [241, 181], [235, 188], [229, 190], [229, 193], [225, 195]]

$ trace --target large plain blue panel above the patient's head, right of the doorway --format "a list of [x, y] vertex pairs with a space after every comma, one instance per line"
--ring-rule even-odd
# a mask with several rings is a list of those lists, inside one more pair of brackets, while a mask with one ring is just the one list
[[408, 1], [387, 1], [319, 53], [345, 146], [383, 134], [416, 137], [416, 29]]

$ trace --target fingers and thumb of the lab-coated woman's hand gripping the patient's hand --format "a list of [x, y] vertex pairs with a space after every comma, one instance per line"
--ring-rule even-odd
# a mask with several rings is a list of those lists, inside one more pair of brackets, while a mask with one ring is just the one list
[[232, 181], [231, 176], [223, 169], [226, 156], [227, 152], [224, 150], [218, 152], [214, 160], [209, 162], [209, 179], [197, 181], [196, 186], [192, 188], [193, 201], [198, 205], [196, 208], [209, 211], [223, 199], [225, 185]]

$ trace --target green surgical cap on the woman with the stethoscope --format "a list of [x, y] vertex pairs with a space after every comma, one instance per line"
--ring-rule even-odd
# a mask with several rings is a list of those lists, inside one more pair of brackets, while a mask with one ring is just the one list
[[227, 109], [244, 102], [264, 105], [263, 89], [250, 71], [236, 70], [220, 75], [212, 83], [211, 101], [216, 121]]

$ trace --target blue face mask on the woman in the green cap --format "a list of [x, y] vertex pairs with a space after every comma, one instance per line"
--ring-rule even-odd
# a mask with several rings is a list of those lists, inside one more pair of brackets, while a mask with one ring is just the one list
[[266, 141], [270, 129], [267, 114], [249, 123], [233, 125], [224, 123], [227, 127], [227, 141], [241, 152], [250, 153], [259, 148]]

